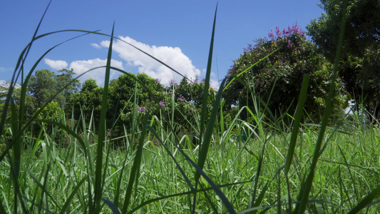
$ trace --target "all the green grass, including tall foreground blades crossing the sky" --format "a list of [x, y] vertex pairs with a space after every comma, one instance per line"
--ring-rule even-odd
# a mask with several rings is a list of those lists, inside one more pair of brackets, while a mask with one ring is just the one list
[[[215, 20], [206, 86], [210, 81]], [[109, 73], [114, 69], [128, 75], [111, 67], [112, 41], [116, 39], [113, 31], [106, 35], [70, 30], [111, 38], [105, 66], [104, 108], [97, 128], [92, 120], [83, 118], [73, 128], [60, 121], [37, 119], [42, 108], [31, 119], [24, 118], [24, 98], [31, 73], [49, 51], [61, 45], [46, 51], [24, 76], [27, 69], [23, 62], [34, 41], [60, 32], [36, 36], [37, 31], [38, 27], [19, 58], [1, 115], [1, 143], [9, 141], [0, 156], [0, 213], [376, 213], [380, 210], [379, 130], [361, 125], [346, 132], [342, 131], [344, 127], [327, 127], [331, 98], [327, 99], [321, 125], [300, 123], [302, 101], [307, 96], [307, 76], [289, 133], [279, 131], [282, 129], [278, 127], [284, 126], [281, 121], [265, 122], [263, 111], [267, 108], [260, 106], [241, 106], [226, 123], [227, 115], [220, 110], [225, 86], [222, 81], [210, 120], [205, 120], [206, 96], [201, 113], [194, 116], [200, 118], [192, 126], [192, 133], [198, 133], [200, 138], [199, 147], [192, 145], [189, 136], [175, 134], [173, 119], [165, 123], [153, 116], [138, 121], [137, 90], [133, 126], [118, 139], [107, 140], [104, 124]], [[255, 94], [250, 84], [239, 76], [234, 81], [240, 81], [247, 91]], [[18, 78], [23, 81], [20, 107], [16, 108], [11, 93]], [[141, 83], [136, 79], [136, 84]], [[330, 95], [332, 91], [334, 78]], [[265, 106], [259, 97], [253, 98]], [[248, 112], [247, 121], [240, 120], [242, 111]], [[6, 113], [10, 113], [10, 118], [6, 118]], [[163, 113], [173, 115], [173, 109]], [[41, 123], [43, 127], [37, 137], [28, 132], [32, 123]], [[52, 133], [47, 131], [48, 127], [53, 127]], [[58, 128], [66, 135], [59, 137]], [[138, 138], [137, 145], [135, 138]], [[120, 139], [125, 142], [125, 148], [113, 148], [112, 142]], [[159, 145], [154, 141], [160, 142]]]

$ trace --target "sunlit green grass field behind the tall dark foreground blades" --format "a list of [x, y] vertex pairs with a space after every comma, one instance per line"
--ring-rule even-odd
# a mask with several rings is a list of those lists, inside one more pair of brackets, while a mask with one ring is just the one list
[[[245, 213], [247, 205], [253, 203], [255, 206], [252, 208], [259, 211], [277, 213], [278, 209], [289, 208], [289, 196], [294, 207], [299, 188], [309, 172], [318, 130], [306, 126], [299, 132], [294, 162], [289, 174], [284, 176], [291, 133], [255, 132], [250, 131], [252, 127], [253, 124], [245, 121], [235, 121], [224, 133], [213, 134], [203, 171], [220, 187], [236, 211]], [[327, 131], [309, 197], [307, 209], [310, 212], [347, 213], [378, 185], [380, 132], [376, 128], [365, 131], [361, 128], [351, 128], [349, 133]], [[87, 135], [91, 136], [91, 133]], [[144, 138], [139, 173], [136, 175], [138, 179], [130, 195], [127, 213], [190, 213], [195, 191], [189, 188], [177, 164], [192, 185], [195, 170], [174, 145], [183, 148], [195, 162], [199, 148], [192, 147], [187, 136], [173, 142], [176, 137], [172, 133], [162, 130], [160, 135], [164, 136], [161, 138], [163, 144], [158, 146], [148, 141], [148, 137]], [[48, 213], [47, 210], [51, 213], [66, 213], [66, 210], [70, 210], [69, 213], [88, 212], [88, 182], [93, 179], [88, 177], [93, 176], [91, 168], [95, 168], [89, 160], [96, 159], [96, 143], [88, 144], [85, 138], [88, 144], [86, 156], [77, 139], [70, 139], [69, 145], [61, 148], [59, 142], [52, 141], [50, 136], [37, 141], [26, 137], [25, 141], [32, 145], [38, 142], [40, 146], [38, 151], [29, 146], [21, 154], [19, 190], [26, 207], [34, 207], [32, 213], [37, 213], [37, 210], [41, 213]], [[106, 145], [112, 145], [112, 141]], [[125, 142], [128, 142], [128, 137]], [[107, 159], [103, 161], [102, 198], [114, 202], [119, 195], [119, 201], [125, 200], [124, 191], [128, 188], [137, 154], [133, 146], [105, 148], [103, 157]], [[4, 160], [0, 168], [0, 198], [6, 213], [12, 213], [11, 165]], [[222, 201], [204, 178], [200, 179], [198, 191], [195, 213], [226, 212]], [[255, 198], [255, 201], [250, 198]], [[283, 205], [277, 207], [278, 200]], [[67, 208], [62, 210], [68, 202]], [[20, 205], [19, 202], [16, 204]], [[366, 209], [369, 213], [376, 213], [380, 207], [374, 203]], [[111, 210], [103, 204], [102, 212], [111, 213]]]

